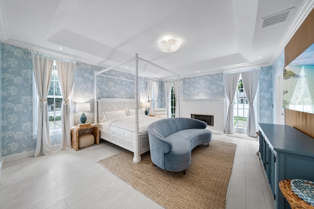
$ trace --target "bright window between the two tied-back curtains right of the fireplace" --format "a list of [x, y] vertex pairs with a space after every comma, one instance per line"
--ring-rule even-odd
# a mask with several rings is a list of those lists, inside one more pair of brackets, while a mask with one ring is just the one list
[[246, 99], [241, 76], [239, 77], [237, 91], [234, 100], [234, 126], [239, 129], [246, 129], [249, 104]]

